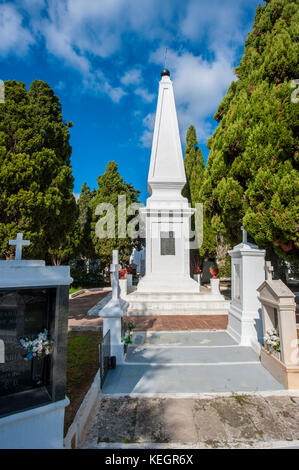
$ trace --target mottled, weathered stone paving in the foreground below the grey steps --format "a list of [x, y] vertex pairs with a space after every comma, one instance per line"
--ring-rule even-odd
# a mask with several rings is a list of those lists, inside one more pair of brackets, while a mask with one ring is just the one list
[[298, 395], [214, 399], [102, 395], [80, 447], [262, 448], [279, 441], [284, 441], [282, 447], [292, 441], [296, 446], [298, 439]]

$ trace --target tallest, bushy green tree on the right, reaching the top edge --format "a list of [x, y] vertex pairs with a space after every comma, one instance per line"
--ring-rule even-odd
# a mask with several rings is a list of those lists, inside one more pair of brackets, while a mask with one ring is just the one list
[[203, 188], [226, 240], [239, 241], [243, 224], [261, 248], [290, 261], [298, 259], [298, 24], [295, 0], [257, 8], [238, 80], [215, 115]]

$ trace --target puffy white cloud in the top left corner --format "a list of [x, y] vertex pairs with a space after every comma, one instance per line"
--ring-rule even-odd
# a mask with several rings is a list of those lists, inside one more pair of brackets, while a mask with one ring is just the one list
[[25, 55], [34, 43], [33, 36], [22, 23], [22, 16], [12, 4], [0, 5], [0, 56]]

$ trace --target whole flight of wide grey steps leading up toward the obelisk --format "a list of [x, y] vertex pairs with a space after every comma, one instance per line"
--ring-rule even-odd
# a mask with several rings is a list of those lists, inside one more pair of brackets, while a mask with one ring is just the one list
[[226, 332], [135, 335], [123, 365], [108, 372], [105, 394], [255, 392], [283, 387], [258, 355]]

